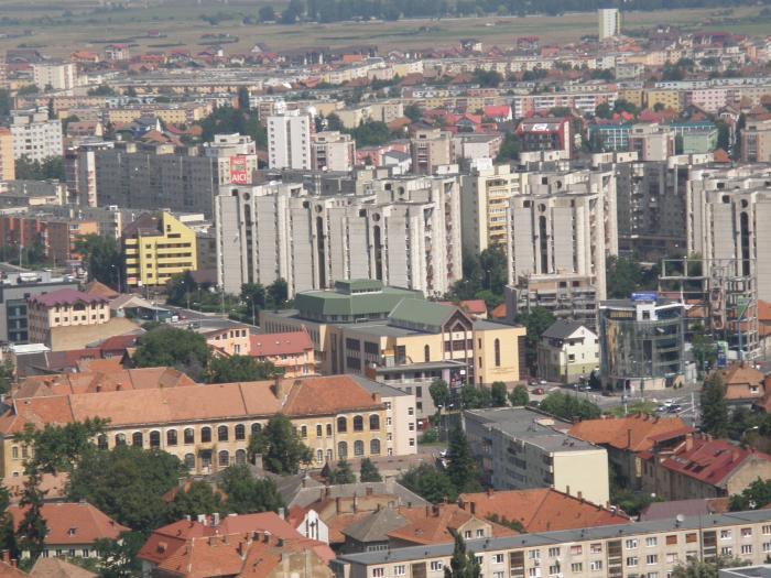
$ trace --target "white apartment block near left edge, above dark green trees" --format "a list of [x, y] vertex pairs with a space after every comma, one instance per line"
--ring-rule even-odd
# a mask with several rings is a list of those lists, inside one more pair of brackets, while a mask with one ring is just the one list
[[13, 159], [43, 162], [62, 156], [62, 121], [48, 120], [46, 110], [14, 110], [11, 114]]

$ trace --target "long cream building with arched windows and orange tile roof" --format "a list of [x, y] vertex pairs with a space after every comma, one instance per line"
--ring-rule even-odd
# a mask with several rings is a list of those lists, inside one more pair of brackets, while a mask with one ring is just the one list
[[[97, 444], [167, 451], [191, 473], [247, 462], [250, 435], [286, 415], [321, 467], [340, 458], [416, 451], [415, 397], [359, 375], [330, 375], [215, 385], [110, 388], [58, 393], [22, 389], [0, 416], [2, 472], [21, 476], [28, 449], [14, 440], [26, 424], [108, 421]], [[53, 394], [52, 394], [53, 393]]]

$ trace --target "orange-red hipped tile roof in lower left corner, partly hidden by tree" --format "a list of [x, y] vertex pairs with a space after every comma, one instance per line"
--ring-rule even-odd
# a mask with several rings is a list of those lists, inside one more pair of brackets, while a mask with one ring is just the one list
[[[19, 527], [25, 511], [25, 508], [19, 505], [8, 508], [14, 528]], [[122, 532], [130, 530], [86, 502], [44, 503], [41, 513], [48, 528], [45, 536], [48, 545], [93, 544], [99, 538], [117, 539]]]

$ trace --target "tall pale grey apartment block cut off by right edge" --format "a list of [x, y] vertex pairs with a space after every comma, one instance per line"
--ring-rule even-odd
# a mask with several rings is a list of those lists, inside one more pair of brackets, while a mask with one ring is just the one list
[[753, 277], [763, 301], [771, 299], [770, 179], [767, 166], [699, 168], [691, 172], [686, 196], [688, 253]]

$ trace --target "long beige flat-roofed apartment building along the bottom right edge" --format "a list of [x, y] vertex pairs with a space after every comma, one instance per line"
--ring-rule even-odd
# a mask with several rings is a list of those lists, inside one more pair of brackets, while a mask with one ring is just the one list
[[[771, 553], [771, 511], [678, 516], [649, 522], [468, 541], [481, 576], [492, 578], [666, 578], [691, 558], [719, 556], [764, 564]], [[337, 578], [441, 578], [454, 544], [344, 554]]]

